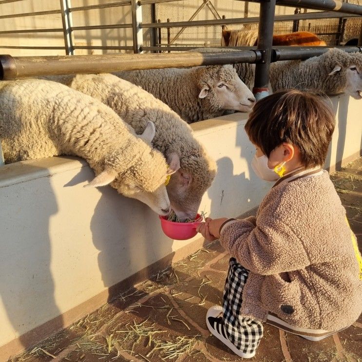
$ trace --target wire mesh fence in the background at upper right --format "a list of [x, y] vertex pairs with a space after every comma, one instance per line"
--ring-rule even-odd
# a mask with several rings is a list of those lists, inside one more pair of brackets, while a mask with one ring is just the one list
[[[362, 0], [349, 0], [361, 5]], [[301, 8], [277, 6], [275, 15], [292, 15], [315, 12]], [[259, 16], [259, 4], [239, 0], [183, 0], [155, 5], [156, 21], [192, 21], [211, 19], [250, 18]], [[293, 31], [308, 31], [319, 36], [328, 46], [343, 44], [351, 38], [358, 38], [362, 20], [359, 19], [313, 19], [274, 23], [274, 34]], [[227, 29], [257, 29], [257, 24], [228, 25]], [[161, 28], [156, 45], [173, 46], [220, 46], [222, 26], [199, 26], [185, 28]]]

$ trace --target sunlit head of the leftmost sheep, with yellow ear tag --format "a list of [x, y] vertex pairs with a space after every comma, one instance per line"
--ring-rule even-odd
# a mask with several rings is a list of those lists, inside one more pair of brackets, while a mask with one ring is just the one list
[[[117, 171], [117, 164], [122, 163], [124, 152], [115, 150], [104, 160], [104, 170], [86, 186], [111, 184], [122, 195], [145, 203], [159, 215], [167, 215], [171, 209], [165, 182], [168, 174], [175, 170], [167, 165], [161, 152], [149, 146], [153, 136], [154, 126], [149, 122], [144, 133], [139, 135], [136, 141], [133, 140], [135, 148], [143, 152], [137, 154], [132, 166], [126, 171]], [[132, 151], [132, 148], [127, 149], [127, 152], [131, 152], [131, 158], [135, 154]]]

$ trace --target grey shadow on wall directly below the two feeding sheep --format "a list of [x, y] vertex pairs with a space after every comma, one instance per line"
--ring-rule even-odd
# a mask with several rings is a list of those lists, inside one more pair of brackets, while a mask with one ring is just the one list
[[[93, 243], [99, 250], [99, 271], [104, 286], [109, 288], [110, 301], [120, 290], [128, 287], [117, 287], [119, 281], [140, 269], [150, 270], [159, 255], [168, 255], [167, 259], [172, 260], [173, 241], [164, 235], [158, 215], [147, 205], [126, 198], [110, 187], [99, 188], [99, 191], [102, 196], [95, 207], [90, 227]], [[109, 239], [110, 235], [113, 235], [113, 240]], [[135, 266], [138, 267], [134, 269]], [[140, 279], [147, 276], [146, 272], [139, 273]], [[130, 281], [130, 286], [138, 281]]]

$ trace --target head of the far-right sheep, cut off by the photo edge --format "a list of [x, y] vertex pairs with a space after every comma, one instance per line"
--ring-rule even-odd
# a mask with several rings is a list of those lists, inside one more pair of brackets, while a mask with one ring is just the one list
[[325, 55], [328, 76], [333, 77], [336, 93], [347, 93], [355, 99], [362, 98], [362, 54], [348, 54], [339, 49]]

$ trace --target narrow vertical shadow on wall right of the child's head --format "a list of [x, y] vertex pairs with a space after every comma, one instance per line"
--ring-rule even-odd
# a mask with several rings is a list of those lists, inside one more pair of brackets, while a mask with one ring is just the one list
[[[347, 132], [347, 115], [349, 105], [349, 95], [343, 94], [337, 97], [328, 98], [328, 101], [333, 105], [333, 111], [338, 119], [338, 124], [334, 132], [338, 132], [336, 159], [332, 160], [332, 143], [329, 144], [327, 158], [325, 160], [324, 168], [330, 169], [333, 165], [336, 165], [336, 171], [340, 171], [342, 168], [343, 150], [346, 141]], [[362, 141], [361, 141], [362, 142]]]

